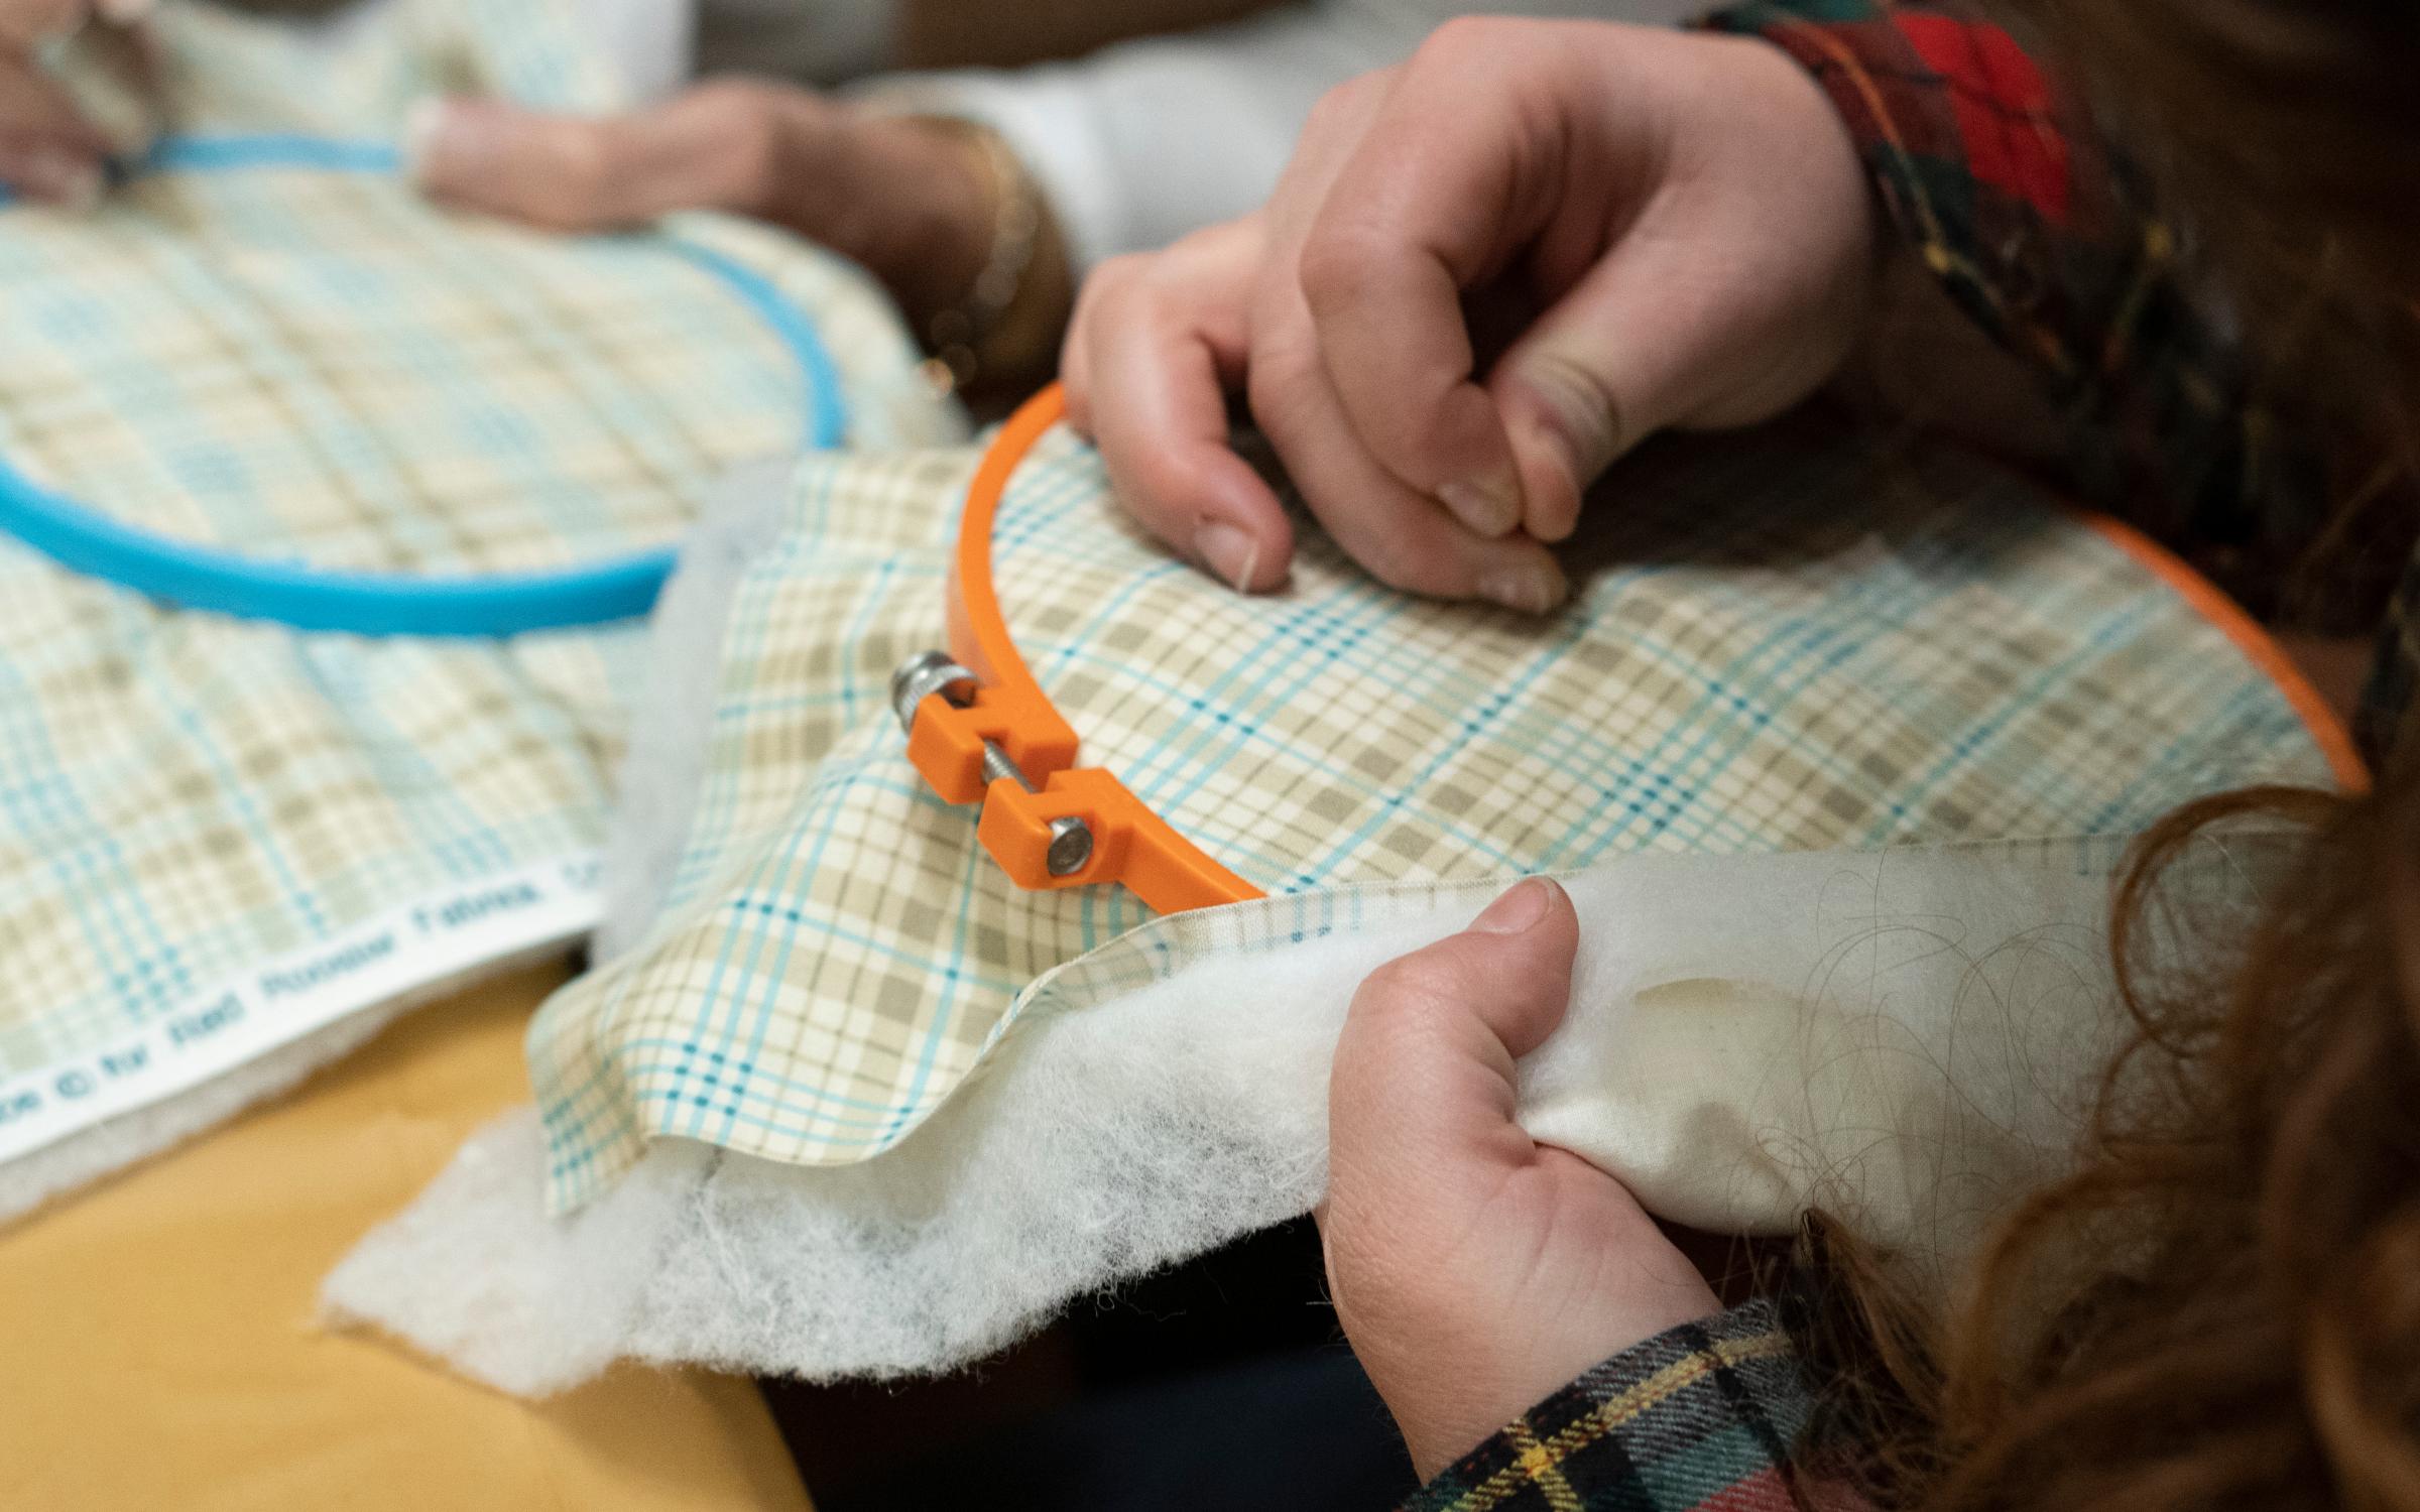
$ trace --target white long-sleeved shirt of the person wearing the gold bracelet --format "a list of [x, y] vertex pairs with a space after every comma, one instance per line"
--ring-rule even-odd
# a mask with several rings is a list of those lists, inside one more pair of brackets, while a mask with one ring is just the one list
[[[1704, 0], [1307, 0], [1246, 22], [1125, 41], [1074, 63], [881, 73], [900, 0], [586, 0], [598, 27], [651, 53], [641, 87], [748, 68], [852, 87], [898, 109], [997, 131], [1041, 181], [1079, 266], [1241, 215], [1268, 198], [1312, 104], [1343, 80], [1411, 56], [1437, 22], [1503, 15], [1677, 22]], [[658, 12], [682, 15], [663, 17]], [[692, 31], [695, 27], [695, 31]], [[680, 41], [668, 41], [680, 39]]]

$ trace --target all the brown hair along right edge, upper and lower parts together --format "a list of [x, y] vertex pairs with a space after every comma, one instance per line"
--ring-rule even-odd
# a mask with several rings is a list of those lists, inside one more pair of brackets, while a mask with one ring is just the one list
[[[1999, 10], [2098, 80], [2265, 360], [2420, 431], [2420, 5]], [[2149, 951], [2185, 927], [2163, 871], [2246, 818], [2306, 827], [2294, 885], [2251, 939]], [[2171, 815], [2115, 943], [2134, 1035], [2081, 1161], [1946, 1316], [1810, 1219], [1820, 1442], [1883, 1507], [2420, 1510], [2420, 760]]]

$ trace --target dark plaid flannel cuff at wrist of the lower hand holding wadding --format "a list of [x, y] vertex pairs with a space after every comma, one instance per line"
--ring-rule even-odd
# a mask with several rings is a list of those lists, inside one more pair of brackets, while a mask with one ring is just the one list
[[1597, 1364], [1437, 1473], [1404, 1512], [1788, 1512], [1813, 1398], [1769, 1299]]

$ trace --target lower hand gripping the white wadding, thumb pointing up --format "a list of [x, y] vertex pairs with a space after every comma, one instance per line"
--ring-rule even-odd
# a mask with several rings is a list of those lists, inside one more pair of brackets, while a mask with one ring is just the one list
[[1319, 1212], [1336, 1316], [1421, 1478], [1580, 1372], [1721, 1311], [1655, 1219], [1512, 1123], [1512, 1062], [1571, 999], [1580, 922], [1551, 881], [1353, 997]]

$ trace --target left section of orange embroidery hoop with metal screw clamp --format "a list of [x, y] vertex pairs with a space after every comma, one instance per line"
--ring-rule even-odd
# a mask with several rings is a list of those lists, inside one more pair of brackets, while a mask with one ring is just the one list
[[1067, 411], [1058, 385], [1009, 416], [966, 491], [949, 573], [949, 651], [891, 675], [908, 760], [949, 803], [980, 803], [975, 837], [1019, 888], [1125, 883], [1162, 914], [1261, 898], [1152, 813], [1116, 774], [1077, 767], [1077, 733], [1033, 682], [992, 590], [999, 496]]

